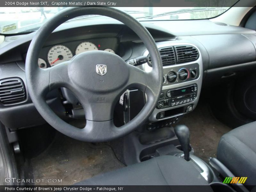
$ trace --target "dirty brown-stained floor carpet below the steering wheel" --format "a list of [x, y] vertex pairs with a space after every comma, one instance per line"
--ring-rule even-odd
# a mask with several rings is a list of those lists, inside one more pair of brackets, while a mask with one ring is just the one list
[[[72, 185], [100, 173], [124, 167], [112, 148], [69, 138], [59, 132], [53, 143], [39, 156], [29, 160], [34, 180], [44, 179], [36, 185]], [[45, 183], [48, 179], [61, 179], [62, 183]]]

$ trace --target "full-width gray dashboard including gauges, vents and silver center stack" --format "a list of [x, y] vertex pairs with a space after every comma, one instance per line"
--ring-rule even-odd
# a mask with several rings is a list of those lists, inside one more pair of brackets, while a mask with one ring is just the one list
[[[183, 114], [193, 111], [203, 87], [227, 80], [227, 74], [239, 75], [256, 69], [256, 32], [253, 30], [220, 26], [209, 20], [145, 21], [142, 24], [155, 39], [164, 64], [162, 93], [146, 124], [148, 130], [172, 124]], [[191, 33], [186, 26], [194, 26]], [[0, 121], [10, 130], [45, 123], [26, 88], [25, 60], [34, 35], [7, 36], [0, 44], [0, 86], [13, 81], [23, 89], [19, 96], [7, 99], [0, 90]], [[64, 23], [45, 40], [37, 65], [49, 68], [81, 52], [99, 50], [117, 54], [123, 60], [145, 56], [148, 62], [138, 68], [146, 72], [152, 70], [150, 55], [139, 37], [116, 21]], [[184, 54], [186, 60], [183, 60]], [[144, 101], [136, 98], [131, 103], [138, 109]], [[68, 90], [61, 89], [61, 94], [58, 90], [50, 92], [46, 100], [63, 119], [81, 113], [76, 98]], [[76, 108], [65, 114], [63, 105]], [[16, 121], [12, 120], [14, 118]]]

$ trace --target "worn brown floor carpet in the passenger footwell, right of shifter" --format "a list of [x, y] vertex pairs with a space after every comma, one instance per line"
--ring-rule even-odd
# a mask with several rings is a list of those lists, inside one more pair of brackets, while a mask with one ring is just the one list
[[218, 121], [204, 102], [199, 102], [196, 109], [179, 122], [190, 130], [190, 144], [195, 155], [209, 162], [209, 157], [216, 157], [220, 137], [231, 131], [231, 128]]

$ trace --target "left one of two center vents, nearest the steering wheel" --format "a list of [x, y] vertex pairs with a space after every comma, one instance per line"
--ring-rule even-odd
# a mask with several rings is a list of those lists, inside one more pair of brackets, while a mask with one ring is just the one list
[[[175, 64], [175, 55], [173, 47], [163, 47], [159, 49], [163, 66]], [[148, 55], [148, 64], [152, 66], [151, 58]]]

